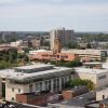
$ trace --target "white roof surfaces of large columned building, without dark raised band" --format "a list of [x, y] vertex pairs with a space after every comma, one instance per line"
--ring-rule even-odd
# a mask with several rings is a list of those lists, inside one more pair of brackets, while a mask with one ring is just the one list
[[[38, 67], [49, 67], [52, 65], [37, 65]], [[36, 66], [36, 67], [37, 67]], [[37, 68], [38, 68], [37, 67]], [[18, 67], [18, 68], [23, 68], [23, 69], [31, 69], [35, 68], [35, 65], [30, 65], [30, 66], [24, 66], [24, 67]], [[67, 67], [54, 67], [53, 69], [48, 69], [44, 71], [37, 71], [37, 72], [31, 72], [31, 73], [27, 73], [27, 72], [16, 72], [15, 69], [4, 69], [4, 70], [0, 70], [0, 76], [2, 78], [8, 78], [8, 79], [15, 79], [15, 80], [24, 80], [24, 79], [31, 79], [31, 78], [42, 78], [42, 77], [46, 77], [49, 75], [59, 75], [60, 72], [68, 72], [70, 71], [71, 68], [67, 68]]]

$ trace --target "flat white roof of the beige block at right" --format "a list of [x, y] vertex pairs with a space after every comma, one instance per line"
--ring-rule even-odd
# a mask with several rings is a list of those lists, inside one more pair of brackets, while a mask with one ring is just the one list
[[80, 67], [80, 68], [75, 68], [76, 72], [78, 73], [104, 73], [104, 72], [108, 72], [107, 69], [92, 69], [92, 68], [84, 68], [84, 67]]

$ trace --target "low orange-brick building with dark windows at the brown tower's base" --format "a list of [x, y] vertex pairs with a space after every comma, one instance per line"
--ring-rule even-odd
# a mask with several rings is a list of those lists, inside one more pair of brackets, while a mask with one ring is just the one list
[[38, 51], [30, 51], [29, 52], [30, 59], [37, 59], [37, 60], [67, 60], [71, 62], [79, 56], [77, 54], [71, 53], [53, 53], [52, 51], [44, 51], [44, 50], [38, 50]]

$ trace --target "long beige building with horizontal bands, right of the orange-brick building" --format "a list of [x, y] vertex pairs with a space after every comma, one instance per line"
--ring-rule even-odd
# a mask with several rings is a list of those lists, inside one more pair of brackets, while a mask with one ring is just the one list
[[63, 53], [72, 53], [79, 55], [82, 62], [91, 62], [91, 60], [106, 60], [107, 58], [107, 51], [106, 50], [94, 50], [94, 49], [86, 49], [86, 50], [63, 50]]

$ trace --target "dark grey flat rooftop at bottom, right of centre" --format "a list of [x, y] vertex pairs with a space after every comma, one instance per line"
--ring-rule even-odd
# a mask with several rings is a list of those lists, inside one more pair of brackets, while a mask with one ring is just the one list
[[85, 108], [85, 105], [95, 100], [95, 94], [93, 92], [73, 97], [70, 100], [53, 104], [58, 105], [58, 108]]

